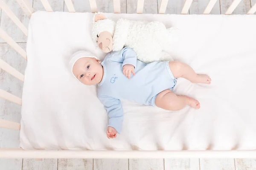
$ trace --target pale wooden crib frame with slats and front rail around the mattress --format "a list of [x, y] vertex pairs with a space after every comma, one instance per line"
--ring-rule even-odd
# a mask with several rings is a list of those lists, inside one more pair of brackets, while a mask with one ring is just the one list
[[[232, 14], [241, 0], [233, 0], [225, 14]], [[76, 12], [72, 0], [64, 0], [69, 12]], [[207, 7], [203, 14], [209, 14], [217, 0], [209, 0]], [[17, 3], [23, 9], [28, 17], [34, 12], [31, 4], [27, 0], [17, 0]], [[41, 0], [46, 11], [53, 11], [47, 0]], [[91, 12], [97, 12], [96, 0], [89, 0]], [[161, 0], [158, 13], [165, 14], [168, 0]], [[192, 4], [192, 0], [186, 0], [181, 14], [187, 14]], [[137, 0], [137, 14], [143, 13], [144, 0]], [[9, 16], [9, 18], [17, 25], [18, 28], [28, 36], [28, 30], [10, 10], [10, 8], [0, 0], [0, 8]], [[113, 0], [113, 13], [120, 13], [120, 0]], [[254, 14], [256, 12], [256, 4], [247, 14]], [[14, 48], [24, 59], [26, 59], [26, 51], [23, 50], [5, 31], [0, 28], [0, 37], [6, 41], [12, 48]], [[24, 81], [24, 75], [15, 68], [0, 59], [0, 68], [16, 77], [20, 81]], [[17, 105], [22, 105], [22, 100], [0, 89], [0, 97], [13, 102]], [[12, 130], [20, 130], [20, 123], [10, 122], [0, 119], [0, 127]], [[182, 150], [182, 151], [85, 151], [85, 150], [23, 150], [21, 148], [10, 149], [0, 148], [0, 158], [252, 158], [256, 157], [255, 150]]]

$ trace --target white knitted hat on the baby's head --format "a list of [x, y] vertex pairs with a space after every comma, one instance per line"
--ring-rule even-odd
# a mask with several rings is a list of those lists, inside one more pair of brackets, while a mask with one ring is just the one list
[[[69, 64], [68, 64], [69, 70], [71, 71], [71, 73], [72, 73], [72, 75], [73, 75], [74, 77], [76, 77], [76, 76], [73, 74], [73, 66], [74, 66], [74, 64], [76, 63], [76, 61], [77, 61], [78, 59], [83, 58], [83, 57], [91, 57], [91, 58], [96, 58], [96, 59], [98, 59], [97, 57], [95, 57], [94, 54], [92, 54], [92, 53], [89, 52], [89, 51], [83, 51], [83, 50], [81, 50], [81, 51], [75, 52], [75, 53], [71, 56], [70, 62], [69, 62]], [[77, 79], [77, 78], [76, 78], [76, 79]]]

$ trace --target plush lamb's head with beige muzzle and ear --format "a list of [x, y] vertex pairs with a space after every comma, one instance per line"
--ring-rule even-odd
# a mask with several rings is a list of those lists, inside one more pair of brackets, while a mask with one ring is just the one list
[[113, 34], [115, 22], [107, 19], [103, 14], [97, 13], [93, 23], [93, 41], [105, 53], [113, 49]]

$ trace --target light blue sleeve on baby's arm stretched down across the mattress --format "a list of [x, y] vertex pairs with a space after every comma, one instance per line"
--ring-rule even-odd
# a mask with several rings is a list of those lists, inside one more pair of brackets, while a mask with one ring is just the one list
[[104, 108], [107, 110], [109, 117], [108, 126], [115, 128], [117, 133], [120, 134], [122, 131], [123, 122], [123, 110], [120, 100], [113, 97], [101, 95], [99, 95], [98, 97], [104, 105]]

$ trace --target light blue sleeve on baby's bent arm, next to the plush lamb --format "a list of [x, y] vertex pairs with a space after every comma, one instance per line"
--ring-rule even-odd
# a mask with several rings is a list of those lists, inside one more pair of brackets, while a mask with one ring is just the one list
[[137, 65], [137, 55], [135, 53], [135, 51], [129, 47], [125, 47], [122, 50], [122, 57], [123, 57], [123, 64], [122, 64], [122, 68], [124, 65], [126, 64], [131, 64], [134, 66], [134, 68], [136, 68]]

